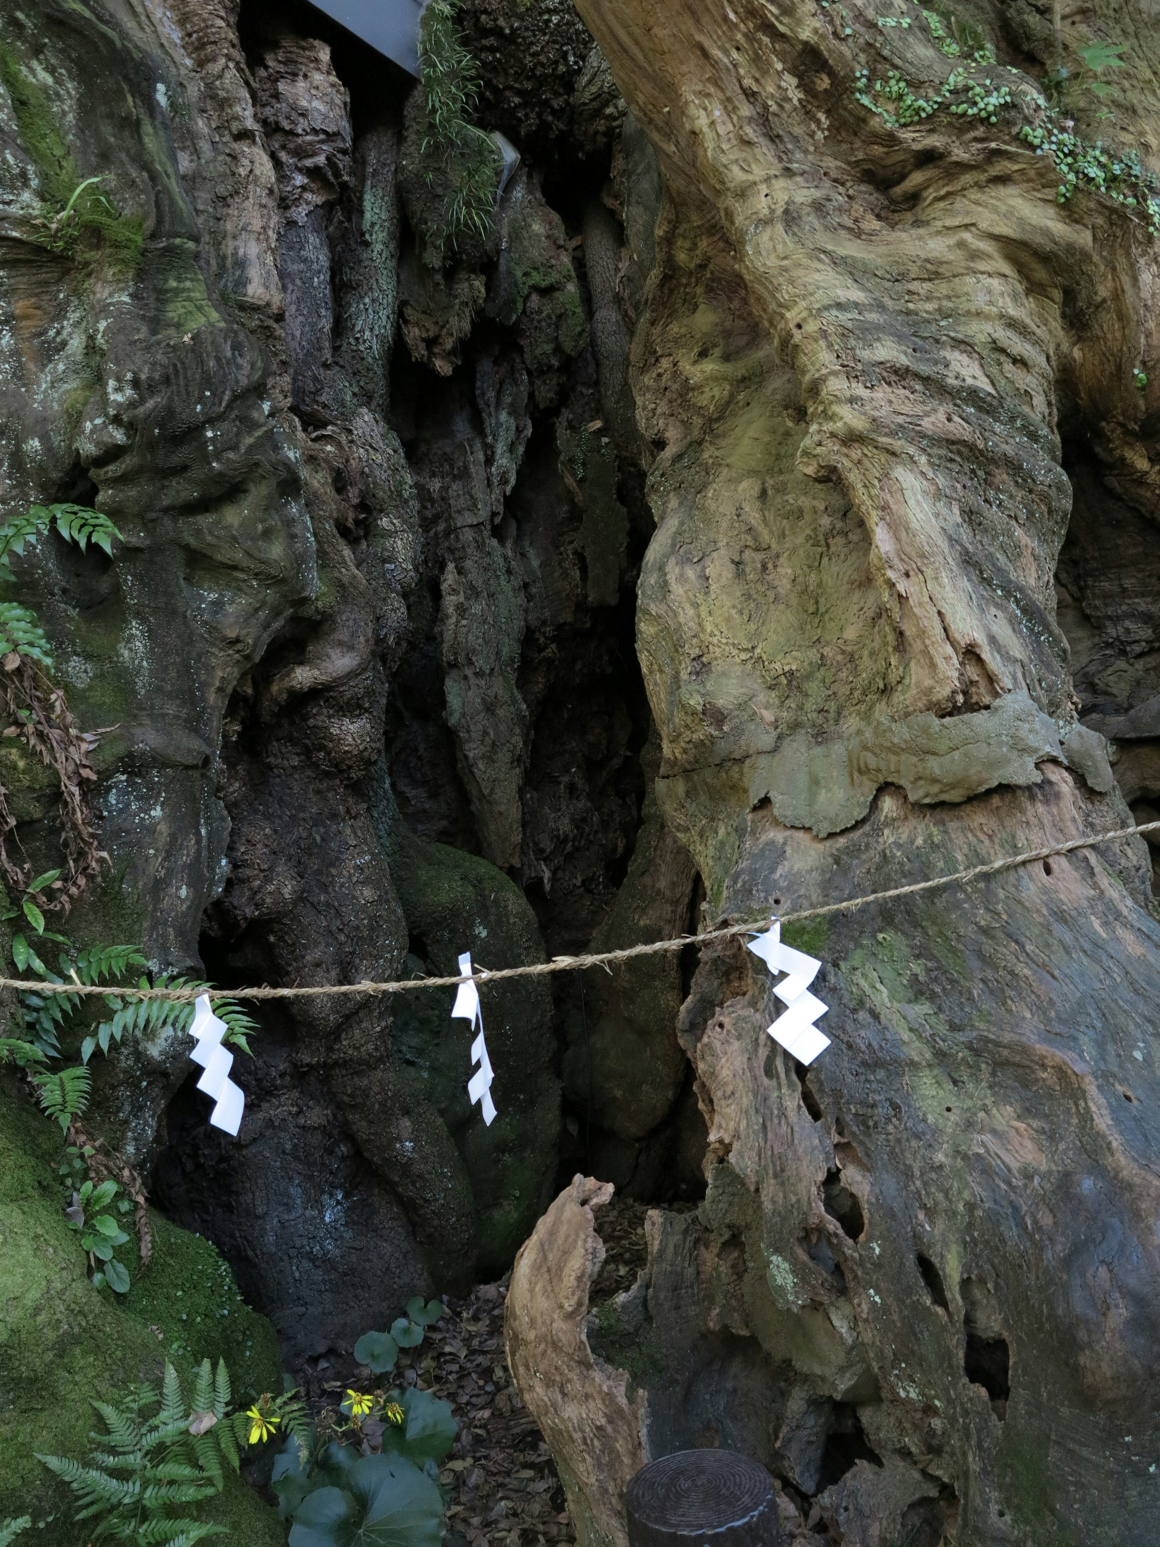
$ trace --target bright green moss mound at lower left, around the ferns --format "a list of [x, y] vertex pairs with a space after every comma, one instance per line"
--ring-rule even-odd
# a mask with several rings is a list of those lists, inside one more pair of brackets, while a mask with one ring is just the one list
[[[93, 1426], [91, 1398], [121, 1392], [133, 1380], [159, 1380], [165, 1341], [179, 1341], [176, 1287], [186, 1273], [195, 1286], [200, 1281], [198, 1304], [230, 1315], [206, 1326], [193, 1358], [172, 1355], [183, 1378], [190, 1378], [203, 1349], [226, 1352], [255, 1385], [277, 1378], [278, 1360], [272, 1332], [238, 1306], [213, 1248], [164, 1221], [156, 1222], [153, 1264], [125, 1299], [94, 1289], [65, 1224], [59, 1160], [59, 1129], [32, 1109], [15, 1077], [0, 1078], [0, 1519], [23, 1511], [37, 1522], [51, 1516], [40, 1539], [77, 1547], [68, 1494], [34, 1451], [80, 1456]], [[209, 1284], [213, 1295], [206, 1298], [201, 1286]], [[285, 1541], [274, 1510], [240, 1479], [229, 1480], [210, 1515], [247, 1547]]]

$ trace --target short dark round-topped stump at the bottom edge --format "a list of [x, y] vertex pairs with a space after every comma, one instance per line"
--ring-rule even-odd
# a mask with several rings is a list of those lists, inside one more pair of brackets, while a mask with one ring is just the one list
[[631, 1547], [780, 1547], [773, 1479], [735, 1451], [651, 1460], [625, 1493]]

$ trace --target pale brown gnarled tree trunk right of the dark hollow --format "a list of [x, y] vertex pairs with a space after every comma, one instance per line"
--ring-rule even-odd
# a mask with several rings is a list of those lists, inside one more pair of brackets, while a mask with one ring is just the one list
[[[1058, 128], [1032, 77], [1061, 50], [1126, 39], [1114, 135], [1149, 150], [1154, 31], [1131, 6], [1064, 15], [1064, 43], [1013, 5], [937, 28], [793, 0], [578, 9], [667, 189], [633, 345], [657, 449], [637, 644], [711, 916], [1123, 825], [1076, 710], [1129, 716], [1100, 729], [1134, 738], [1128, 795], [1154, 797], [1151, 709], [1131, 719], [1160, 685], [1154, 625], [1100, 617], [1157, 515], [1157, 249], [1140, 189], [1081, 176], [1061, 203], [1019, 128]], [[919, 99], [936, 111], [902, 111]], [[1055, 585], [1080, 464], [1076, 696]], [[702, 956], [681, 1036], [708, 1194], [650, 1217], [629, 1340], [651, 1454], [749, 1451], [800, 1535], [849, 1547], [1154, 1533], [1149, 882], [1135, 840], [790, 933], [826, 962], [834, 1046], [809, 1074], [764, 1035], [753, 958]], [[622, 1312], [591, 1324], [612, 1363]]]

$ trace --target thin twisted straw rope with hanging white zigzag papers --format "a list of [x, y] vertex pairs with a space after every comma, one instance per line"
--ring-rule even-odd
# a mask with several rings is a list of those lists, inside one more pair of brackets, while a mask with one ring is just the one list
[[[936, 876], [933, 880], [916, 880], [908, 886], [891, 886], [888, 891], [872, 891], [865, 897], [851, 897], [846, 902], [827, 902], [818, 908], [797, 908], [793, 913], [781, 913], [776, 917], [783, 924], [797, 924], [800, 919], [821, 919], [831, 913], [852, 913], [855, 908], [869, 907], [872, 902], [891, 902], [894, 897], [913, 897], [919, 891], [934, 891], [937, 886], [967, 885], [982, 876], [998, 876], [1001, 871], [1018, 869], [1022, 865], [1033, 865], [1036, 860], [1050, 860], [1059, 854], [1075, 854], [1078, 849], [1093, 849], [1101, 843], [1117, 843], [1120, 838], [1132, 838], [1143, 832], [1155, 832], [1160, 821], [1146, 821], [1138, 828], [1117, 828], [1114, 832], [1100, 832], [1090, 838], [1072, 838], [1067, 843], [1053, 843], [1046, 849], [1027, 849], [1022, 854], [1012, 854], [1002, 860], [991, 860], [987, 865], [973, 865], [970, 869], [956, 871], [953, 876]], [[19, 989], [23, 993], [76, 993], [76, 995], [116, 995], [119, 999], [169, 999], [175, 1004], [192, 1004], [203, 993], [217, 999], [322, 999], [340, 993], [410, 993], [415, 989], [455, 989], [461, 982], [503, 982], [507, 978], [546, 978], [555, 972], [583, 972], [588, 967], [609, 967], [614, 962], [633, 961], [637, 956], [657, 956], [662, 951], [679, 951], [685, 945], [707, 945], [710, 941], [727, 941], [736, 934], [752, 934], [755, 930], [769, 928], [775, 914], [749, 924], [728, 924], [719, 930], [705, 930], [704, 934], [677, 934], [671, 941], [650, 941], [645, 945], [628, 945], [619, 951], [600, 951], [591, 956], [554, 956], [551, 962], [532, 962], [527, 967], [500, 967], [489, 970], [478, 967], [470, 978], [405, 978], [399, 982], [339, 982], [317, 984], [311, 987], [291, 989], [121, 989], [110, 984], [80, 982], [42, 982], [29, 978], [0, 978], [0, 989]]]

